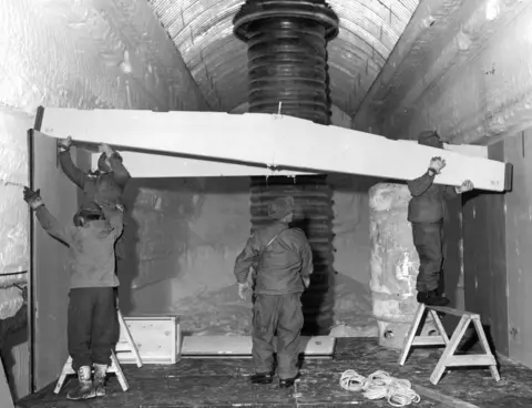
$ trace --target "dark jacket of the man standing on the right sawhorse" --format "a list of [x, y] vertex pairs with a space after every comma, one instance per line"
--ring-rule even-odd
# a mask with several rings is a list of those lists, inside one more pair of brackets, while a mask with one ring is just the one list
[[429, 172], [408, 182], [412, 198], [408, 203], [408, 221], [411, 223], [437, 223], [446, 214], [446, 200], [458, 196], [450, 185], [433, 184]]

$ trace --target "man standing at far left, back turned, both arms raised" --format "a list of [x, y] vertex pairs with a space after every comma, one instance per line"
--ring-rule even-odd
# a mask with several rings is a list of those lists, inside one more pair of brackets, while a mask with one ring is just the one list
[[39, 190], [24, 187], [23, 197], [48, 234], [69, 247], [66, 336], [79, 384], [66, 398], [103, 396], [111, 350], [120, 336], [114, 245], [123, 230], [122, 211], [119, 207], [106, 218], [101, 207], [88, 203], [75, 213], [73, 225], [61, 225], [45, 207]]

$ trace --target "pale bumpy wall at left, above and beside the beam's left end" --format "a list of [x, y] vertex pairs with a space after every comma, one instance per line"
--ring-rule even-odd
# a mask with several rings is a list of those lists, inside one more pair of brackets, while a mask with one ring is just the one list
[[29, 263], [27, 205], [3, 181], [27, 183], [25, 131], [40, 104], [206, 108], [147, 1], [0, 2], [0, 319], [21, 304], [18, 290], [1, 288], [2, 275]]

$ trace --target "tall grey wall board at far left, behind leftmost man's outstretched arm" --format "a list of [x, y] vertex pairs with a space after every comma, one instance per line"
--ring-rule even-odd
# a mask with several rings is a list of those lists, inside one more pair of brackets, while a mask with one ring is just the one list
[[[72, 223], [76, 187], [61, 172], [57, 142], [35, 134], [32, 137], [31, 177], [33, 187], [60, 223]], [[69, 273], [68, 248], [50, 237], [33, 216], [33, 387], [40, 389], [58, 378], [68, 357], [66, 305]]]

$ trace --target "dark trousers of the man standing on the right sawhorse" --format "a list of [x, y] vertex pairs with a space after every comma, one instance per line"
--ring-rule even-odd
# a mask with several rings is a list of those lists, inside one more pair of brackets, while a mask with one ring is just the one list
[[413, 245], [419, 255], [418, 292], [437, 289], [443, 266], [443, 222], [412, 223]]

